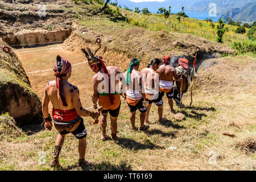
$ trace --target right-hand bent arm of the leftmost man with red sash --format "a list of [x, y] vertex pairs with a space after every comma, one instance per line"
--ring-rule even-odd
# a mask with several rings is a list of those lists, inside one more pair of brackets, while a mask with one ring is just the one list
[[80, 101], [80, 98], [79, 98], [79, 89], [75, 90], [75, 92], [73, 92], [71, 94], [71, 96], [72, 96], [72, 104], [75, 107], [76, 113], [78, 115], [81, 115], [82, 117], [88, 117], [88, 116], [90, 116], [92, 118], [96, 117], [96, 115], [94, 113], [92, 113], [91, 111], [86, 110], [82, 107], [82, 104], [81, 104], [81, 101]]

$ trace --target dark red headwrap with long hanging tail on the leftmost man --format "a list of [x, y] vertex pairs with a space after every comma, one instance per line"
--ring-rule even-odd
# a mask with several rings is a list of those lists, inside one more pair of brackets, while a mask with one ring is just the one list
[[[62, 64], [62, 68], [61, 68], [60, 72], [57, 71], [57, 60], [58, 59], [61, 59], [61, 64]], [[71, 64], [69, 63], [68, 60], [66, 60], [63, 57], [60, 57], [59, 55], [56, 57], [55, 68], [53, 68], [53, 71], [55, 71], [54, 76], [56, 76], [56, 86], [57, 86], [57, 89], [59, 90], [59, 95], [60, 95], [60, 98], [61, 98], [61, 104], [63, 106], [68, 106], [68, 105], [67, 105], [67, 102], [65, 102], [65, 96], [63, 94], [63, 83], [62, 83], [61, 77], [65, 73], [71, 72], [71, 69], [72, 69], [72, 66], [71, 66]]]

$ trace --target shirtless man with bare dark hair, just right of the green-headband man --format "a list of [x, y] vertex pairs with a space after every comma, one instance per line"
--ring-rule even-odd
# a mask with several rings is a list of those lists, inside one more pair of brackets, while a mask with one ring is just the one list
[[141, 71], [146, 98], [149, 102], [144, 122], [145, 125], [149, 123], [148, 115], [153, 102], [158, 106], [159, 122], [163, 121], [163, 99], [159, 93], [159, 75], [156, 73], [160, 63], [161, 61], [159, 59], [153, 59], [151, 63], [147, 65], [147, 68], [144, 68]]

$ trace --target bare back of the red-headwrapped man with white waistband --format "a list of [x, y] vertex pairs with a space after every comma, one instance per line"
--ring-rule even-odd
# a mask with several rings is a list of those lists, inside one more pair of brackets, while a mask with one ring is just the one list
[[171, 65], [160, 65], [156, 72], [159, 73], [159, 80], [173, 81], [174, 78], [177, 79], [175, 68]]

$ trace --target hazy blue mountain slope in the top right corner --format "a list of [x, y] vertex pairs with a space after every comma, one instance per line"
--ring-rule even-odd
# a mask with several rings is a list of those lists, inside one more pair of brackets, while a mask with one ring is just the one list
[[220, 16], [222, 19], [231, 18], [235, 21], [255, 22], [256, 21], [256, 2], [247, 3], [241, 8], [231, 9]]

